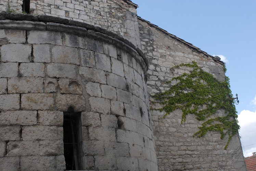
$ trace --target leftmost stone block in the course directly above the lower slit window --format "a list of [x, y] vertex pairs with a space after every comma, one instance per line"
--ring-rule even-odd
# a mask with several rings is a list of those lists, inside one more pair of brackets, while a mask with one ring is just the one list
[[0, 111], [20, 109], [20, 94], [0, 95]]

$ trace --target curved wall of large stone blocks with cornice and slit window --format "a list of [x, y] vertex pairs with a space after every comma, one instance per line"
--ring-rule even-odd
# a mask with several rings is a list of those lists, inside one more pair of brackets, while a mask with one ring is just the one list
[[0, 18], [0, 170], [65, 170], [70, 107], [81, 114], [80, 170], [157, 170], [140, 52], [92, 25]]

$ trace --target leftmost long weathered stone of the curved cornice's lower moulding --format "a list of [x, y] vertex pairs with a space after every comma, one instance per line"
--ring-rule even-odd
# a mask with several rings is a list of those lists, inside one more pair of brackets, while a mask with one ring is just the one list
[[14, 20], [0, 20], [0, 28], [10, 29], [26, 29], [26, 30], [45, 30], [46, 24], [42, 22], [32, 21], [14, 21]]

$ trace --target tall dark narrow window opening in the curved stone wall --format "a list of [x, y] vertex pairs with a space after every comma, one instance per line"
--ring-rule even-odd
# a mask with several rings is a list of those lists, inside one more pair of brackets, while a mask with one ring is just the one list
[[63, 142], [66, 170], [81, 170], [82, 163], [82, 131], [81, 113], [68, 109], [64, 113]]

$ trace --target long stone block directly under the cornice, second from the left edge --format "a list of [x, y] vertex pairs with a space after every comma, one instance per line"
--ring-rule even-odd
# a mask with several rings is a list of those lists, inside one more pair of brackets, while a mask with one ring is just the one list
[[29, 30], [27, 31], [27, 37], [27, 41], [30, 44], [50, 43], [55, 45], [62, 45], [60, 32]]

